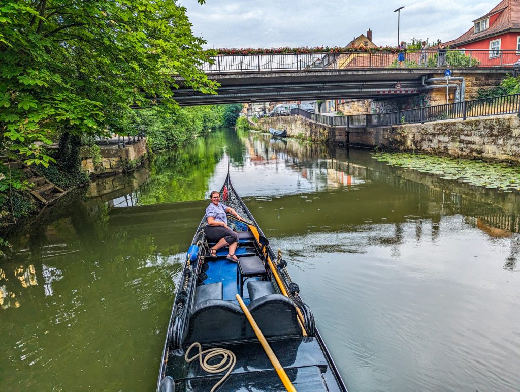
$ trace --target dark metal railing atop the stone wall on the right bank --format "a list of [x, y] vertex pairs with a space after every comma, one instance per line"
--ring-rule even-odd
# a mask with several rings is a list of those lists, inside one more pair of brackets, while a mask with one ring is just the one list
[[[287, 113], [289, 114], [289, 113]], [[302, 116], [310, 121], [329, 127], [366, 128], [387, 127], [405, 123], [424, 123], [428, 121], [454, 120], [472, 117], [486, 117], [507, 114], [520, 115], [520, 94], [500, 95], [444, 104], [425, 106], [417, 109], [350, 116], [325, 116], [311, 113], [303, 109], [291, 109], [290, 115]]]

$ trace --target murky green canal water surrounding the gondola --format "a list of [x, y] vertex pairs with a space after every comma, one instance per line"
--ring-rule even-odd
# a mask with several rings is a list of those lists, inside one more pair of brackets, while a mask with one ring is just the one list
[[0, 263], [2, 390], [154, 390], [228, 161], [350, 391], [518, 390], [520, 195], [372, 154], [225, 130], [62, 198]]

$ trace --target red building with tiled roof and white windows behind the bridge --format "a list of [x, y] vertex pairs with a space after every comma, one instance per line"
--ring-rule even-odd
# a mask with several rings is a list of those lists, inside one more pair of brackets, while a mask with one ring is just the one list
[[496, 57], [497, 65], [498, 50], [516, 50], [520, 54], [520, 0], [502, 0], [486, 15], [475, 19], [471, 29], [446, 45], [453, 49], [489, 50], [489, 59]]

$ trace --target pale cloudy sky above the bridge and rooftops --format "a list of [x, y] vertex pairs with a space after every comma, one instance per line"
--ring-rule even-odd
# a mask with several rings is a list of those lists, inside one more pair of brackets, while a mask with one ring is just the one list
[[376, 45], [429, 38], [449, 41], [473, 26], [499, 0], [181, 0], [193, 34], [207, 48], [345, 46], [372, 30]]

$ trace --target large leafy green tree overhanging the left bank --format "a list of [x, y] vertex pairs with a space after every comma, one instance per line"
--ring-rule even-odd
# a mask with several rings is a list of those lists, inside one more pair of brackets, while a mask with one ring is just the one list
[[[204, 3], [204, 0], [199, 0]], [[132, 132], [129, 106], [178, 108], [172, 73], [214, 93], [200, 71], [212, 52], [175, 0], [7, 0], [0, 7], [2, 148], [48, 164], [56, 133]], [[67, 138], [77, 141], [77, 137]], [[72, 145], [68, 147], [75, 148]]]

